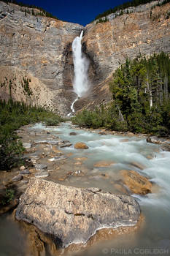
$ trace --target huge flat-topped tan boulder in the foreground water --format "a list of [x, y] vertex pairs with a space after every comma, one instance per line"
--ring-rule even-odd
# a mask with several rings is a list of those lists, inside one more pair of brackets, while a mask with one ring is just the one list
[[85, 243], [102, 228], [134, 226], [139, 216], [134, 197], [98, 188], [66, 187], [39, 178], [30, 179], [16, 211], [18, 220], [51, 234], [61, 247]]

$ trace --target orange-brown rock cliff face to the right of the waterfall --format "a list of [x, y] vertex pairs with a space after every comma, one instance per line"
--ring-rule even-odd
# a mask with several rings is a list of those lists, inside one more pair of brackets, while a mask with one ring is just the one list
[[88, 101], [92, 108], [109, 99], [108, 81], [127, 57], [134, 59], [139, 53], [144, 56], [161, 51], [170, 53], [170, 18], [167, 16], [170, 4], [151, 10], [153, 4], [140, 6], [136, 12], [106, 23], [90, 23], [85, 27], [84, 51], [94, 70], [90, 74], [93, 93], [91, 102]]

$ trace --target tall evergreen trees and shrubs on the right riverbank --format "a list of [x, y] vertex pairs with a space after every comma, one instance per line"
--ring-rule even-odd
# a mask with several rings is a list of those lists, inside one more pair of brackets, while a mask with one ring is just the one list
[[96, 110], [82, 110], [74, 124], [118, 131], [170, 134], [170, 59], [165, 53], [150, 59], [126, 59], [110, 83], [113, 101]]

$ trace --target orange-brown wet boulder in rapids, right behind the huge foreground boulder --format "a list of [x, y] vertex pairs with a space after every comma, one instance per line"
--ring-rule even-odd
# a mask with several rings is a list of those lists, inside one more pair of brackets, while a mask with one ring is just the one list
[[124, 184], [131, 192], [139, 195], [152, 193], [152, 183], [148, 178], [141, 176], [134, 170], [121, 170], [120, 174], [123, 176]]

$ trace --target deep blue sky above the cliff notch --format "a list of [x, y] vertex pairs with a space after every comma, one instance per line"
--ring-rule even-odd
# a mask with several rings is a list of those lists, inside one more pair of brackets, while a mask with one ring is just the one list
[[61, 20], [79, 23], [83, 26], [94, 20], [96, 15], [127, 0], [22, 0], [51, 12]]

